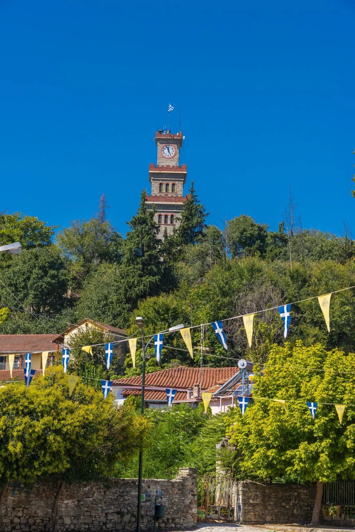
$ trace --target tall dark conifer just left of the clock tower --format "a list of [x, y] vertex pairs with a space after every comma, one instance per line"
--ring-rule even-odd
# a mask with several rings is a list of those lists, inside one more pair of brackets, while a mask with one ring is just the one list
[[123, 241], [123, 260], [120, 285], [126, 312], [135, 309], [139, 300], [159, 294], [162, 261], [158, 238], [159, 227], [154, 221], [154, 211], [148, 211], [146, 191], [141, 194], [137, 214], [127, 222], [130, 231]]

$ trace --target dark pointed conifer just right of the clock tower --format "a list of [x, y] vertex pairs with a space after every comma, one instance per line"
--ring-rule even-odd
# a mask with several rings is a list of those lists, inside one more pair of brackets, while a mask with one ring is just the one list
[[177, 229], [177, 240], [181, 244], [196, 244], [203, 236], [205, 219], [209, 213], [205, 214], [203, 205], [195, 194], [194, 182], [191, 183], [190, 194], [184, 203], [184, 210], [181, 213], [181, 223]]

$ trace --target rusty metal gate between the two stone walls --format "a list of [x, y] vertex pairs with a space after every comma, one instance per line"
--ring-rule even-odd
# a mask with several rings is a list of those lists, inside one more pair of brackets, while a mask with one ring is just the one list
[[201, 521], [241, 520], [238, 482], [232, 477], [199, 477], [197, 518]]

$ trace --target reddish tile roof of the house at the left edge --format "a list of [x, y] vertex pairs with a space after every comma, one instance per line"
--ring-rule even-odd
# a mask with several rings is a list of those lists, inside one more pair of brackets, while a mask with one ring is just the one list
[[0, 353], [56, 351], [56, 334], [0, 334]]

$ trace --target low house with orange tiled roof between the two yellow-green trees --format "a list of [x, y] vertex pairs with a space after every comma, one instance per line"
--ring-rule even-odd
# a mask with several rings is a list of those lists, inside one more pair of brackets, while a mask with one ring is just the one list
[[[177, 390], [172, 404], [189, 403], [193, 408], [201, 402], [203, 392], [212, 393], [212, 413], [224, 412], [235, 405], [236, 395], [241, 395], [242, 372], [230, 368], [188, 368], [179, 366], [145, 375], [144, 403], [146, 408], [167, 406], [166, 388]], [[142, 395], [142, 375], [113, 381], [112, 392], [119, 404], [129, 395]]]

